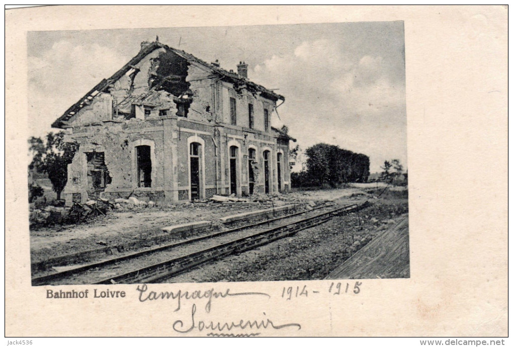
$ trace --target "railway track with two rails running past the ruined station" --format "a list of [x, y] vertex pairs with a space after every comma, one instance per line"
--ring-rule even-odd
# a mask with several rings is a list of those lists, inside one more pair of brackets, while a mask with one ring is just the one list
[[[312, 215], [312, 209], [243, 225], [121, 257], [79, 265], [63, 272], [34, 277], [32, 285], [159, 282], [207, 261], [233, 253], [245, 252], [251, 248], [293, 235], [300, 230], [322, 224], [333, 216], [365, 208], [367, 205], [368, 203], [353, 204], [314, 215]], [[333, 205], [324, 205], [319, 208], [330, 206]], [[303, 215], [312, 216], [304, 218]], [[283, 223], [285, 219], [287, 221]], [[212, 246], [214, 240], [215, 245]], [[133, 270], [121, 273], [127, 269]]]

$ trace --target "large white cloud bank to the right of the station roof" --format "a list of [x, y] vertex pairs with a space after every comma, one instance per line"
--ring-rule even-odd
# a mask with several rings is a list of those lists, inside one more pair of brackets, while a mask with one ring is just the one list
[[384, 64], [380, 55], [351, 56], [336, 41], [305, 41], [251, 76], [280, 88], [281, 119], [302, 147], [327, 142], [365, 153], [372, 171], [386, 159], [406, 164], [405, 87]]

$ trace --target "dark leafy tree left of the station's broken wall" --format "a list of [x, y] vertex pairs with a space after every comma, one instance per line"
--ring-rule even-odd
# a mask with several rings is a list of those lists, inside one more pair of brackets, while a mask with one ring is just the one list
[[29, 145], [29, 150], [33, 153], [29, 169], [46, 172], [57, 194], [57, 200], [60, 200], [61, 192], [68, 181], [68, 164], [71, 164], [78, 145], [64, 142], [63, 131], [48, 133], [46, 143], [41, 138], [31, 137]]

